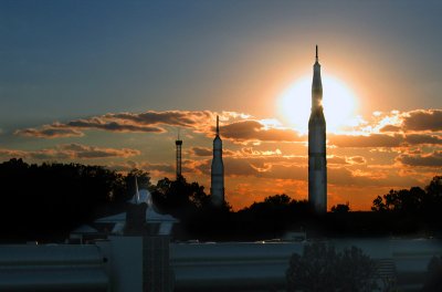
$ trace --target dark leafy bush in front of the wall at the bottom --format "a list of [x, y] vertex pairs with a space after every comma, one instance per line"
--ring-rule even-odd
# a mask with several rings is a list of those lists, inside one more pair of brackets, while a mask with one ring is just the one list
[[324, 242], [304, 247], [294, 253], [286, 271], [287, 291], [372, 291], [376, 264], [359, 248], [343, 252]]

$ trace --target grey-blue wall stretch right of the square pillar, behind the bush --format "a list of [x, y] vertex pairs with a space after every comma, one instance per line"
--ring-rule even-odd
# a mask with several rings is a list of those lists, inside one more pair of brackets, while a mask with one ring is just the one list
[[[441, 240], [335, 239], [337, 250], [359, 247], [377, 261], [394, 267], [400, 291], [419, 291], [427, 264], [442, 254]], [[271, 291], [285, 288], [285, 271], [292, 253], [302, 253], [308, 242], [173, 243], [171, 265], [176, 291]]]

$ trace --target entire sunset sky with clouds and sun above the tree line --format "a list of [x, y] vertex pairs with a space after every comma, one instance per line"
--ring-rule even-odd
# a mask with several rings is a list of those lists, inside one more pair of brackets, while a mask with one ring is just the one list
[[[0, 160], [103, 165], [225, 198], [307, 198], [315, 45], [328, 208], [442, 175], [441, 1], [0, 0]], [[25, 182], [25, 181], [23, 181]]]

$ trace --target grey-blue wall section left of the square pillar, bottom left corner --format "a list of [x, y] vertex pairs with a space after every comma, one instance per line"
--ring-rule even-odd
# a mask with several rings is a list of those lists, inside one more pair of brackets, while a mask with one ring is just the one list
[[107, 291], [95, 246], [1, 246], [0, 291]]

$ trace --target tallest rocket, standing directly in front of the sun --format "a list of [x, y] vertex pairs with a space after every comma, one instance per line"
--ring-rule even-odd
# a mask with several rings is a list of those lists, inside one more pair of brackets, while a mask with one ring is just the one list
[[323, 83], [316, 45], [313, 66], [312, 113], [308, 121], [308, 201], [317, 213], [327, 212], [326, 123], [323, 112]]

